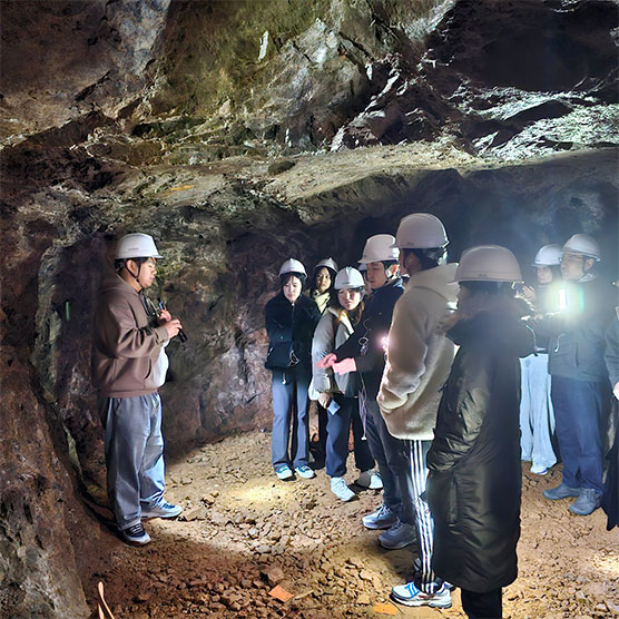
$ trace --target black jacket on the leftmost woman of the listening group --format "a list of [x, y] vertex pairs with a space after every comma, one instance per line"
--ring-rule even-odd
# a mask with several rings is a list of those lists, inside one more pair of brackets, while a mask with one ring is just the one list
[[265, 310], [269, 345], [265, 367], [286, 370], [301, 362], [312, 369], [312, 336], [321, 317], [316, 304], [301, 295], [291, 303], [281, 292]]

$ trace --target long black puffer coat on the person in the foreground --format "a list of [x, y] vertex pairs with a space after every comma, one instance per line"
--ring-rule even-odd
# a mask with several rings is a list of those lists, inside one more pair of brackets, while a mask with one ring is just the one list
[[520, 364], [533, 334], [511, 299], [448, 331], [460, 345], [428, 453], [438, 576], [487, 592], [515, 580], [520, 537]]

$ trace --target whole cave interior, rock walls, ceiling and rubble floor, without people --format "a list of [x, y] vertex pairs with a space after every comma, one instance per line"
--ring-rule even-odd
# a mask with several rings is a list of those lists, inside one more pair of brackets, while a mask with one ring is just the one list
[[[360, 529], [377, 497], [271, 479], [277, 269], [355, 266], [369, 236], [432, 213], [450, 261], [503, 245], [530, 282], [541, 245], [586, 233], [617, 279], [618, 17], [610, 0], [1, 2], [0, 616], [90, 617], [98, 580], [117, 618], [379, 616], [412, 558]], [[140, 552], [109, 523], [90, 377], [101, 274], [130, 232], [155, 237], [150, 296], [189, 337], [161, 393], [191, 519], [156, 522]], [[617, 615], [617, 531], [549, 509], [558, 479], [523, 475], [507, 612]]]

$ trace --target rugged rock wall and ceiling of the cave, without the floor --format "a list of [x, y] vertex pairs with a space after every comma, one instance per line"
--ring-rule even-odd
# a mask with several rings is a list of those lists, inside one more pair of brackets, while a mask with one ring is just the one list
[[617, 22], [601, 0], [2, 2], [0, 612], [88, 616], [109, 540], [88, 333], [116, 236], [155, 236], [189, 335], [170, 453], [266, 428], [288, 256], [354, 264], [429, 210], [454, 258], [588, 232], [617, 275]]

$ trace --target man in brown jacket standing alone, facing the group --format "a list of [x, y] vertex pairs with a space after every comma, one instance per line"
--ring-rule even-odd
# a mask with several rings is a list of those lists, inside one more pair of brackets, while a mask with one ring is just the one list
[[166, 310], [157, 314], [145, 294], [160, 257], [147, 234], [129, 234], [118, 242], [116, 274], [99, 291], [92, 338], [110, 507], [122, 538], [139, 546], [150, 541], [143, 518], [176, 518], [183, 511], [164, 499], [158, 393], [168, 365], [164, 346], [181, 325]]

